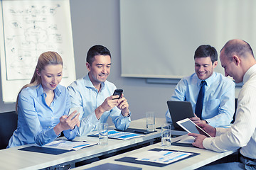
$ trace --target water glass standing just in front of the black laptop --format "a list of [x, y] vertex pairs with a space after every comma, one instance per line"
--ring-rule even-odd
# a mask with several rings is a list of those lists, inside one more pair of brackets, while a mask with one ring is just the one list
[[171, 146], [171, 124], [161, 125], [161, 146]]

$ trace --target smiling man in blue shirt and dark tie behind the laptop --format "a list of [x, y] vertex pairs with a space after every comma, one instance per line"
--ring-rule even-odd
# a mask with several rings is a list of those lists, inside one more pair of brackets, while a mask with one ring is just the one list
[[[191, 120], [194, 123], [208, 123], [213, 127], [230, 125], [235, 112], [235, 83], [213, 71], [218, 64], [218, 54], [214, 47], [199, 46], [194, 60], [195, 73], [178, 82], [171, 101], [189, 101], [195, 113], [198, 92], [204, 80], [206, 85], [201, 119], [195, 116]], [[169, 111], [166, 112], [166, 120], [171, 122]]]

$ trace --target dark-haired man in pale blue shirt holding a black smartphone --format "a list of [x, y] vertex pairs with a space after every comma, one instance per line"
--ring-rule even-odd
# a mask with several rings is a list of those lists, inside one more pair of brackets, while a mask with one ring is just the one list
[[107, 81], [110, 66], [110, 51], [102, 45], [92, 46], [86, 58], [89, 73], [68, 86], [71, 107], [82, 108], [80, 136], [95, 130], [98, 123], [106, 123], [109, 116], [118, 130], [129, 127], [131, 113], [127, 99], [122, 93], [113, 95], [117, 87]]

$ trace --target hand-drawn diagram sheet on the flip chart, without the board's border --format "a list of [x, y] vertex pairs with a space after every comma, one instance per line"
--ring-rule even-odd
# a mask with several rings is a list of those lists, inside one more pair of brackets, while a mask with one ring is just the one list
[[[42, 52], [58, 52], [64, 63], [73, 57], [65, 24], [70, 18], [58, 1], [16, 1], [3, 4], [3, 12], [7, 80], [31, 79]], [[68, 77], [65, 64], [63, 72]]]

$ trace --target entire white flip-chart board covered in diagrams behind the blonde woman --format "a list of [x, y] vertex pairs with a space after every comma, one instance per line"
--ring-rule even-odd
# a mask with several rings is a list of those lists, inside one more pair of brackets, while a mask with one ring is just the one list
[[75, 80], [75, 60], [69, 0], [2, 0], [0, 57], [3, 101], [16, 101], [31, 81], [41, 53], [55, 51], [63, 58], [63, 79]]

